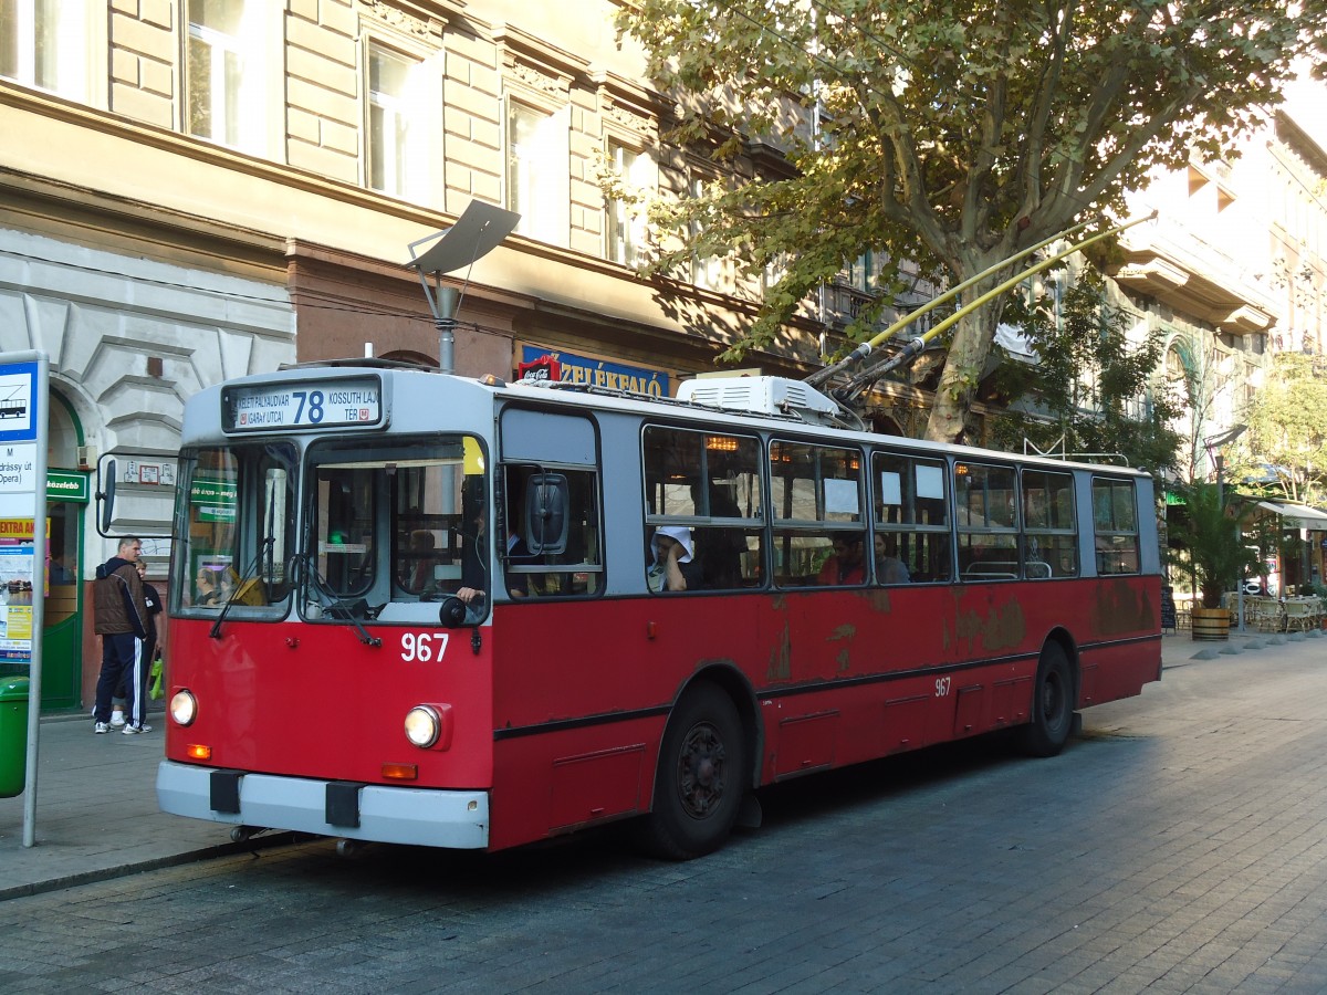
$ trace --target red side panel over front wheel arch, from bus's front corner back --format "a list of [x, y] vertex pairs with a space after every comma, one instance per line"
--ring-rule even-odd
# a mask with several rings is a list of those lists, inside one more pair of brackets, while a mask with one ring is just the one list
[[750, 670], [759, 600], [496, 606], [491, 846], [648, 811], [669, 708], [697, 670]]

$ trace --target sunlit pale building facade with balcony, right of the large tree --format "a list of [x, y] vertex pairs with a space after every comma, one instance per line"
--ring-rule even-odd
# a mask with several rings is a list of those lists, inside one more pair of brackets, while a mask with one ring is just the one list
[[[1327, 86], [1303, 72], [1237, 158], [1196, 157], [1131, 208], [1158, 218], [1125, 235], [1113, 277], [1166, 334], [1164, 379], [1188, 407], [1180, 475], [1213, 479], [1226, 447], [1208, 443], [1246, 423], [1277, 353], [1308, 354], [1327, 375]], [[1282, 523], [1279, 589], [1327, 576], [1327, 532], [1310, 524]]]

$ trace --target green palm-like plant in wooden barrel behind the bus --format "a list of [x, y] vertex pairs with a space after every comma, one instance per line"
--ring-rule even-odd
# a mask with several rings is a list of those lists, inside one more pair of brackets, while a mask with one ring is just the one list
[[1217, 484], [1193, 483], [1180, 488], [1185, 517], [1170, 528], [1173, 545], [1188, 551], [1198, 581], [1202, 606], [1192, 612], [1194, 639], [1225, 639], [1230, 613], [1221, 596], [1234, 590], [1241, 577], [1262, 573], [1257, 547], [1245, 539], [1254, 505], [1238, 495], [1226, 498]]

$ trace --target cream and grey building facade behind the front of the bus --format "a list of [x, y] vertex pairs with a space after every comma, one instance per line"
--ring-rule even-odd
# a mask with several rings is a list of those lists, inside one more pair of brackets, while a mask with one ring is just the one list
[[[49, 707], [80, 706], [96, 681], [82, 608], [114, 552], [97, 529], [98, 471], [115, 460], [107, 533], [143, 535], [162, 576], [184, 402], [281, 364], [437, 362], [403, 264], [472, 200], [520, 223], [447, 277], [462, 288], [458, 373], [506, 377], [551, 356], [565, 378], [671, 394], [679, 375], [714, 369], [752, 292], [697, 260], [685, 292], [665, 297], [638, 277], [648, 245], [630, 198], [601, 191], [605, 172], [665, 191], [714, 178], [699, 158], [658, 151], [671, 105], [638, 78], [644, 61], [616, 38], [614, 11], [0, 5], [0, 349], [50, 356], [49, 463], [90, 480], [82, 503], [52, 511], [73, 523], [60, 545], [82, 582]], [[736, 168], [754, 175], [756, 162]], [[799, 348], [815, 358], [807, 341], [754, 362], [791, 371]]]

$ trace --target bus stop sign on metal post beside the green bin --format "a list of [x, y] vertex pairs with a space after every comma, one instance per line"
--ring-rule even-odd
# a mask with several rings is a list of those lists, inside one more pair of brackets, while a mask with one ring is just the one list
[[[0, 517], [32, 520], [32, 557], [7, 569], [8, 590], [21, 596], [27, 573], [32, 590], [28, 609], [28, 756], [24, 775], [23, 845], [37, 841], [37, 742], [41, 730], [41, 630], [46, 597], [46, 405], [50, 361], [41, 352], [0, 353]], [[21, 597], [20, 597], [21, 600]], [[17, 608], [17, 610], [16, 610]], [[5, 642], [21, 642], [13, 631], [23, 606], [5, 605]], [[21, 629], [20, 629], [21, 630]]]

